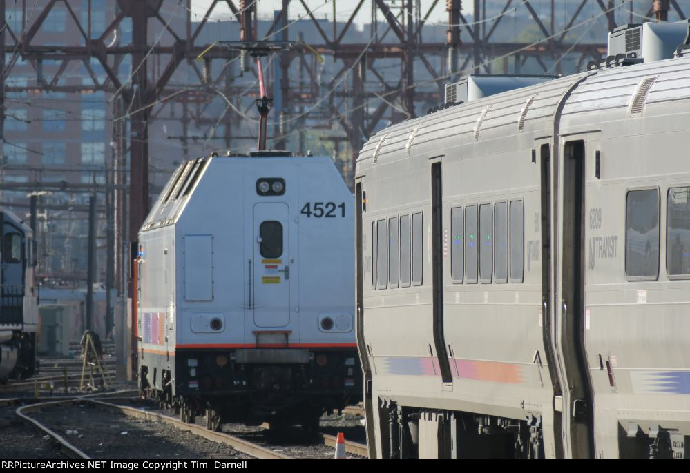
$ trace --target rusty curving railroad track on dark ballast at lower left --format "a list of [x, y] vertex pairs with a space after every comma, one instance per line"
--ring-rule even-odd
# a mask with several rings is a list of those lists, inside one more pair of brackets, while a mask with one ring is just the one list
[[258, 459], [292, 458], [291, 456], [282, 454], [280, 452], [274, 452], [273, 450], [270, 450], [266, 447], [262, 447], [261, 445], [257, 445], [244, 439], [240, 439], [239, 437], [233, 435], [224, 434], [222, 432], [211, 432], [210, 430], [207, 430], [204, 427], [201, 427], [200, 425], [183, 423], [182, 421], [175, 419], [174, 417], [167, 416], [159, 412], [151, 412], [147, 410], [137, 409], [136, 407], [117, 405], [113, 403], [108, 403], [106, 401], [102, 401], [100, 399], [88, 398], [86, 396], [79, 396], [73, 399], [64, 399], [61, 401], [49, 401], [36, 403], [33, 405], [26, 405], [23, 407], [18, 407], [16, 412], [17, 416], [19, 416], [21, 419], [31, 423], [32, 425], [35, 425], [35, 427], [41, 430], [41, 432], [44, 432], [45, 434], [48, 434], [48, 436], [50, 436], [52, 439], [55, 439], [55, 441], [59, 443], [62, 452], [64, 452], [64, 454], [66, 454], [70, 458], [90, 459], [90, 456], [88, 456], [88, 454], [82, 452], [82, 450], [79, 450], [79, 448], [75, 447], [75, 445], [72, 445], [63, 436], [61, 436], [57, 432], [54, 432], [49, 427], [43, 425], [42, 423], [40, 423], [36, 419], [33, 419], [29, 415], [38, 412], [41, 409], [45, 409], [46, 407], [58, 407], [61, 405], [74, 405], [80, 403], [88, 403], [90, 405], [94, 405], [95, 407], [110, 410], [112, 412], [119, 412], [126, 416], [134, 417], [137, 419], [144, 419], [148, 421], [155, 421], [173, 425], [174, 427], [177, 427], [180, 430], [189, 431], [197, 436], [203, 437], [204, 439], [218, 443], [224, 443], [226, 445], [233, 447], [238, 452], [251, 455]]

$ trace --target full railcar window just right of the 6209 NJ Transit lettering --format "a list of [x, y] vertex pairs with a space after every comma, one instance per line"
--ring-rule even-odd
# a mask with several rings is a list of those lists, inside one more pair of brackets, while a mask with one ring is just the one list
[[659, 274], [659, 191], [631, 190], [626, 197], [625, 274]]

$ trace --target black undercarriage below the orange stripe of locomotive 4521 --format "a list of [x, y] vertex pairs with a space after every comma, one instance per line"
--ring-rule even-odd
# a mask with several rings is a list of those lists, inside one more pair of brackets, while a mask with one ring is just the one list
[[[205, 415], [207, 427], [215, 431], [231, 422], [299, 424], [313, 431], [324, 412], [341, 410], [361, 396], [361, 374], [354, 364], [354, 353], [327, 352], [327, 363], [321, 366], [228, 363], [219, 367], [216, 363], [211, 367], [211, 363], [204, 363], [219, 356], [225, 354], [184, 354], [184, 360], [176, 364], [177, 379], [170, 370], [158, 372], [157, 368], [142, 366], [140, 394], [161, 407], [174, 408], [185, 422], [193, 423], [196, 416]], [[189, 368], [189, 360], [194, 361], [194, 367]]]

